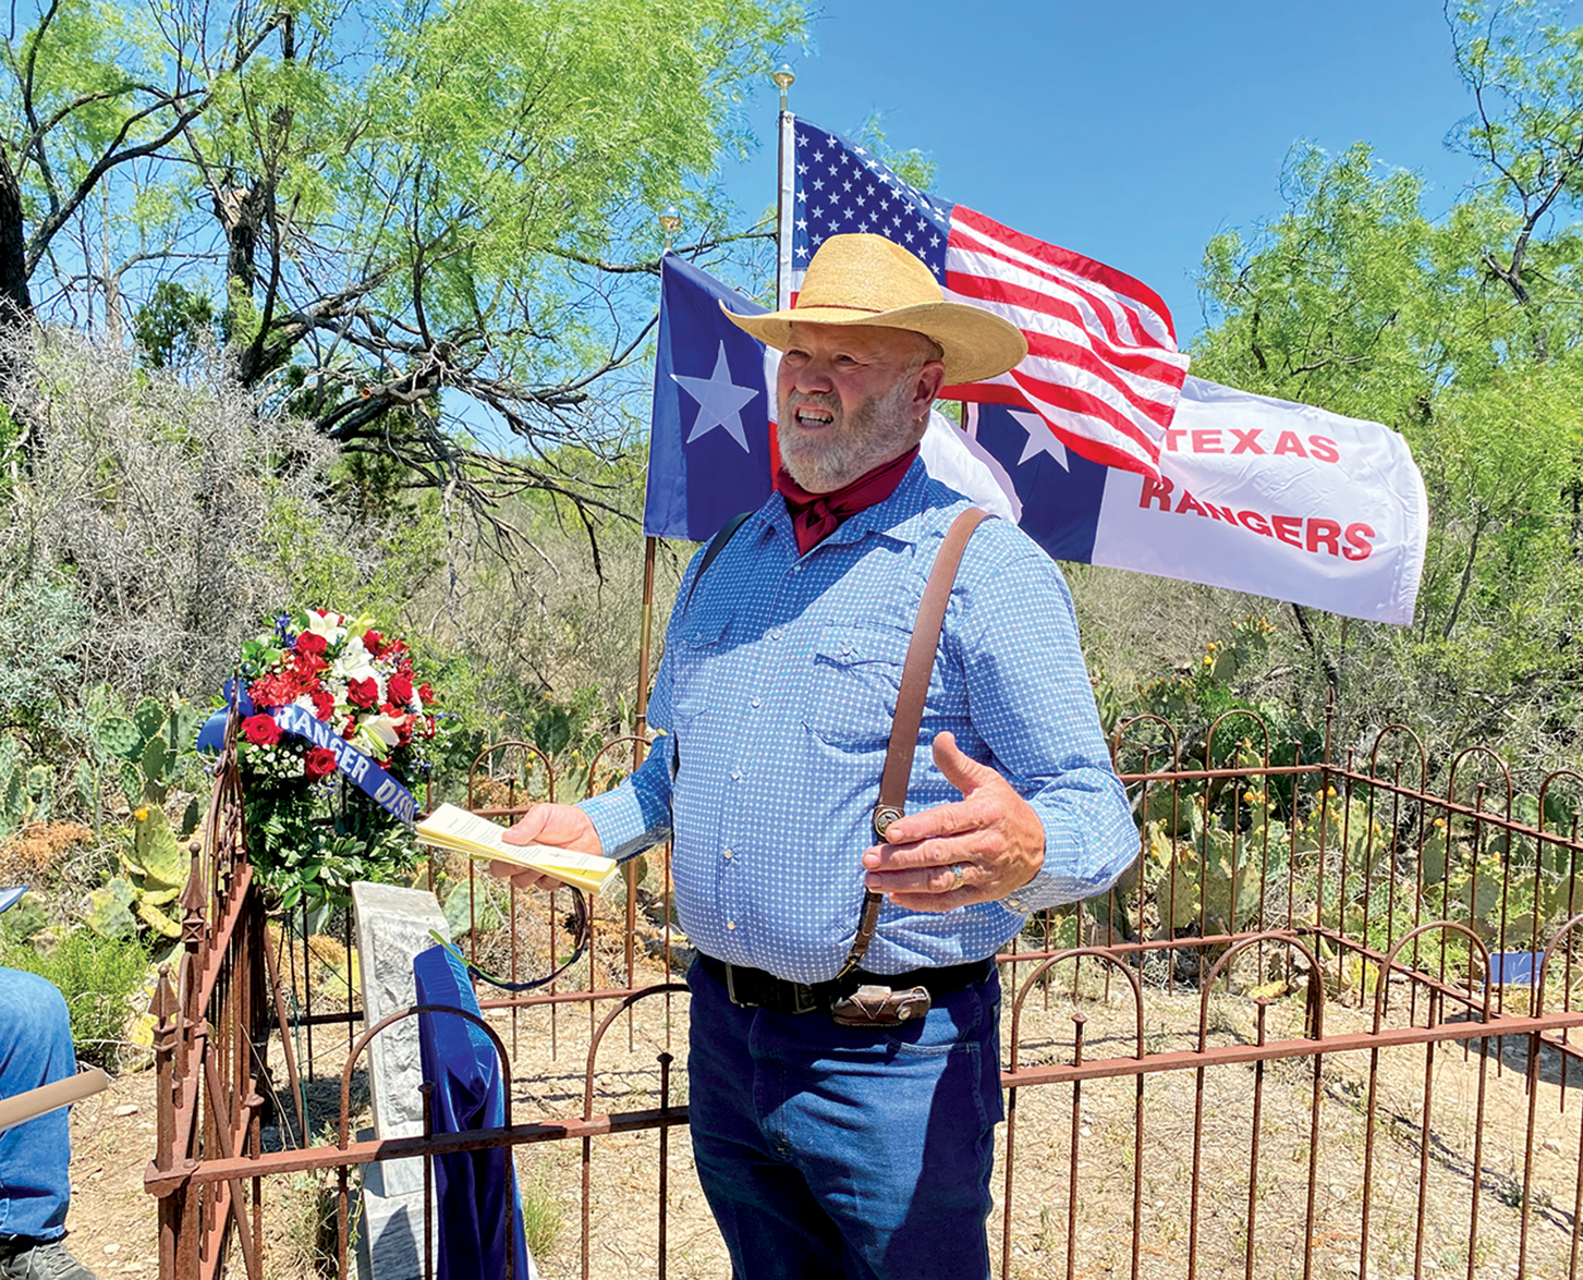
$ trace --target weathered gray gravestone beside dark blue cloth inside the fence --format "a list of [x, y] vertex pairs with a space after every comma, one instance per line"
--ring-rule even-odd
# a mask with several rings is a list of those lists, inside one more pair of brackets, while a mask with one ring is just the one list
[[[363, 1027], [416, 1003], [412, 962], [434, 946], [429, 930], [451, 937], [445, 913], [426, 889], [393, 884], [351, 886], [363, 971]], [[423, 1066], [418, 1019], [380, 1032], [364, 1052], [374, 1138], [423, 1133]], [[438, 1228], [435, 1228], [438, 1234]], [[423, 1160], [382, 1160], [363, 1174], [363, 1221], [358, 1231], [359, 1280], [415, 1280], [423, 1274]]]

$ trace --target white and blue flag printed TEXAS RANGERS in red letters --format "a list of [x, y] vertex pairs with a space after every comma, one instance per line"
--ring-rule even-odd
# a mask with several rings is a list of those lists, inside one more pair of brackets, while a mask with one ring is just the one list
[[966, 429], [1057, 560], [1412, 622], [1428, 500], [1379, 422], [1187, 378], [1159, 479], [1078, 457], [1002, 405], [969, 405]]

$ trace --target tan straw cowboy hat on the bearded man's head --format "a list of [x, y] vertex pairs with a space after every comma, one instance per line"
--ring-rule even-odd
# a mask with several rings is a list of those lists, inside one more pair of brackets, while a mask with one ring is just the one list
[[934, 274], [915, 255], [872, 234], [825, 240], [807, 264], [803, 291], [790, 310], [725, 315], [780, 351], [792, 345], [793, 323], [910, 329], [939, 343], [950, 384], [1005, 373], [1027, 354], [1027, 342], [1015, 324], [966, 302], [947, 302]]

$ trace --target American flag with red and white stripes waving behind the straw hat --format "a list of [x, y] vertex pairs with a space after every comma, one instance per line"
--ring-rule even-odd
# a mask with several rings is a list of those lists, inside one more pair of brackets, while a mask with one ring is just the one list
[[871, 231], [896, 240], [929, 266], [947, 299], [985, 307], [1027, 339], [1027, 358], [1010, 373], [942, 396], [1032, 410], [1083, 457], [1157, 475], [1187, 356], [1151, 288], [934, 199], [839, 134], [806, 120], [795, 130], [793, 296], [826, 237]]

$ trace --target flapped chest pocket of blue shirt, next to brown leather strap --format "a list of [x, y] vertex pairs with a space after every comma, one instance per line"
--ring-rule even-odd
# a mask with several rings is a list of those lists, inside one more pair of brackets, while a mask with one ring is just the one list
[[831, 747], [883, 750], [890, 742], [907, 634], [825, 627], [814, 639], [803, 723]]

